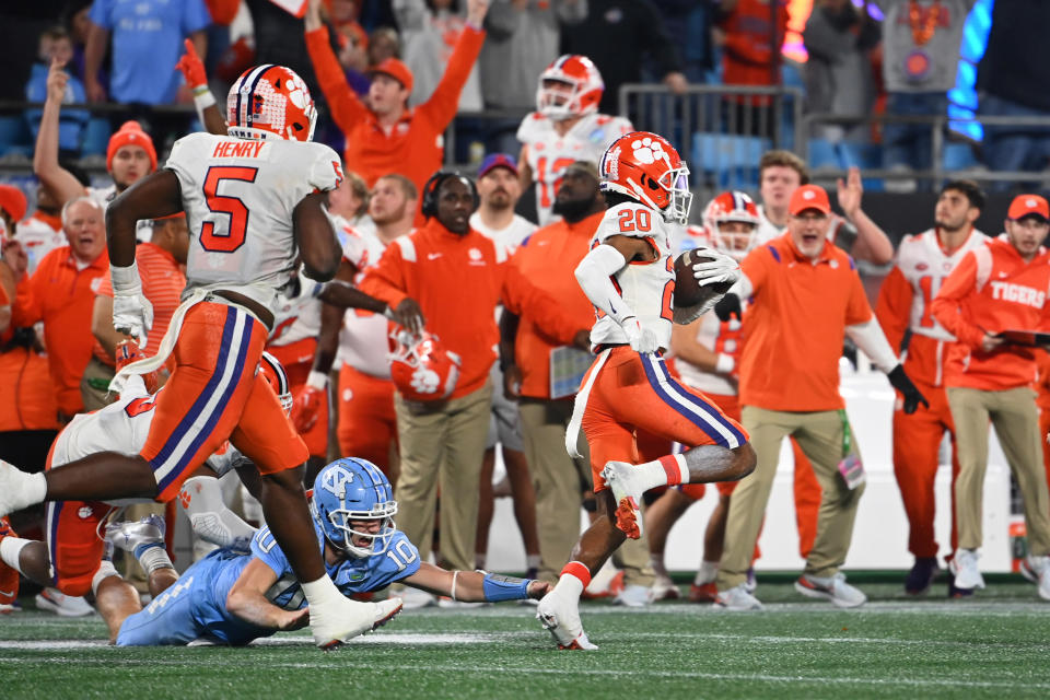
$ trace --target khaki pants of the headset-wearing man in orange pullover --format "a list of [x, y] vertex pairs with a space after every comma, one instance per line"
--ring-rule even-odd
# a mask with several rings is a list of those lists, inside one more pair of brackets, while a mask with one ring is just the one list
[[401, 472], [395, 493], [397, 525], [425, 560], [433, 548], [441, 489], [441, 557], [451, 569], [474, 571], [478, 482], [489, 432], [492, 385], [427, 411], [394, 396]]

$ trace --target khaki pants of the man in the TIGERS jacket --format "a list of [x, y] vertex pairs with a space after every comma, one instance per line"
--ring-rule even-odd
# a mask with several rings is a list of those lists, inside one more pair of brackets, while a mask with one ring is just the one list
[[988, 468], [988, 421], [991, 419], [1010, 469], [1020, 487], [1029, 551], [1035, 556], [1050, 553], [1050, 495], [1042, 468], [1035, 393], [1024, 386], [1005, 392], [953, 386], [948, 387], [947, 394], [959, 451], [959, 478], [955, 482], [959, 547], [977, 549], [983, 537], [981, 508]]

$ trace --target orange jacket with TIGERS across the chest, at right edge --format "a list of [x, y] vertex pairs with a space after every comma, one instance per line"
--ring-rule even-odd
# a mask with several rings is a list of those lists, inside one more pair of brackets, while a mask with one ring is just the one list
[[1036, 380], [1032, 348], [1000, 346], [981, 350], [984, 334], [1050, 330], [1050, 252], [1025, 262], [1004, 237], [968, 253], [931, 304], [933, 315], [959, 342], [948, 352], [945, 385], [988, 392], [1025, 386]]

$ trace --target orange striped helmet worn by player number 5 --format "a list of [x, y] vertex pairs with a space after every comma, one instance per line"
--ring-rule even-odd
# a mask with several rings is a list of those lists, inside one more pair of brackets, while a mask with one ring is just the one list
[[317, 109], [310, 89], [291, 68], [267, 63], [241, 73], [226, 96], [230, 136], [310, 141]]

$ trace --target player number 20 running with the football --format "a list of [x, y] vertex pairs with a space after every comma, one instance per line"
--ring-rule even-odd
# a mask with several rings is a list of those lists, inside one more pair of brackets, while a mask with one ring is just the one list
[[[712, 305], [711, 300], [692, 307], [674, 303], [672, 225], [688, 221], [689, 168], [666, 139], [637, 131], [612, 142], [600, 173], [609, 208], [575, 271], [596, 310], [591, 342], [598, 357], [584, 376], [565, 432], [565, 447], [574, 456], [581, 428], [586, 435], [598, 517], [537, 608], [562, 649], [594, 649], [580, 622], [580, 594], [626, 537], [641, 536], [639, 505], [645, 491], [734, 481], [755, 468], [740, 424], [675, 381], [662, 357], [670, 346], [672, 323], [690, 323]], [[733, 258], [708, 249], [693, 275], [708, 285], [733, 282], [740, 270]], [[633, 464], [635, 431], [687, 448]]]

